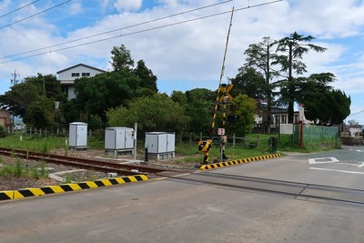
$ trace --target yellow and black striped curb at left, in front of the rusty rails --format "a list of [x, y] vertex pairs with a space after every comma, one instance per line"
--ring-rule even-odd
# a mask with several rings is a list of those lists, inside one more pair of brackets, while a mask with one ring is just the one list
[[109, 187], [117, 184], [124, 184], [128, 182], [136, 182], [147, 179], [148, 177], [145, 175], [136, 175], [130, 177], [116, 177], [116, 178], [98, 179], [95, 181], [69, 183], [69, 184], [62, 184], [59, 186], [24, 188], [14, 191], [13, 190], [0, 191], [0, 201], [9, 199], [18, 199], [24, 197], [44, 196], [45, 194], [64, 193], [68, 191], [76, 191], [76, 190], [96, 188], [96, 187]]

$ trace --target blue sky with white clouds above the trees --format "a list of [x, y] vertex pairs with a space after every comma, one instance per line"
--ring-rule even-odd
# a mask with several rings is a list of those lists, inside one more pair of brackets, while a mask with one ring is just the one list
[[[125, 45], [157, 76], [159, 92], [217, 89], [231, 10], [223, 82], [264, 36], [313, 35], [324, 53], [304, 56], [308, 74], [331, 72], [364, 125], [363, 0], [0, 0], [0, 94], [21, 81], [84, 63], [111, 70]], [[298, 109], [298, 107], [296, 107]]]

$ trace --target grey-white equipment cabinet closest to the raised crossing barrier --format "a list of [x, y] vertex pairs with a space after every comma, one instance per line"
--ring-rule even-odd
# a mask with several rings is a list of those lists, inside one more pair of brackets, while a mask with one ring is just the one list
[[174, 133], [147, 132], [146, 148], [148, 153], [163, 154], [175, 152], [176, 137]]

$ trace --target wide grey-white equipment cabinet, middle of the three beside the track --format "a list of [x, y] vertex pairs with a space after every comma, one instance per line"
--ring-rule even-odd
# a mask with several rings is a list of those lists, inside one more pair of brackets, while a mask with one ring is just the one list
[[107, 127], [105, 149], [121, 150], [134, 148], [134, 129], [130, 127]]

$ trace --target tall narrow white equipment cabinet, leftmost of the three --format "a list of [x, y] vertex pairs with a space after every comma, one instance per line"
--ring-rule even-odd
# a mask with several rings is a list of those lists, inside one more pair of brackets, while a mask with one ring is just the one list
[[73, 122], [69, 124], [69, 147], [87, 147], [87, 124]]

